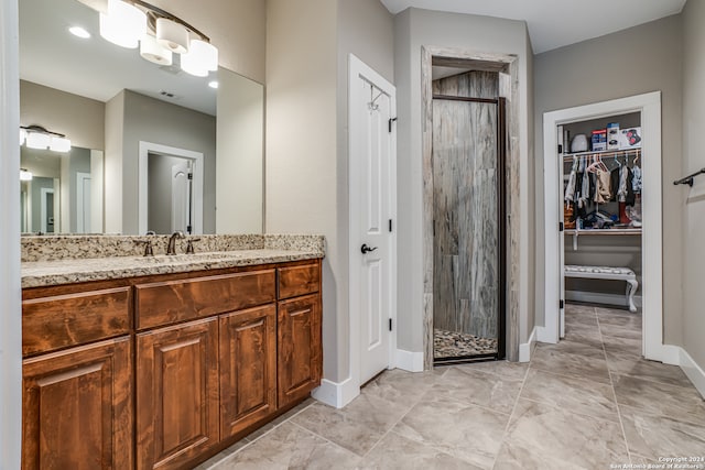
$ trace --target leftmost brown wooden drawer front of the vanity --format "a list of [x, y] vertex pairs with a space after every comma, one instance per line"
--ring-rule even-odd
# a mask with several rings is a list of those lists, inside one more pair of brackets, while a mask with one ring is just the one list
[[124, 335], [130, 330], [130, 287], [23, 300], [22, 354]]

